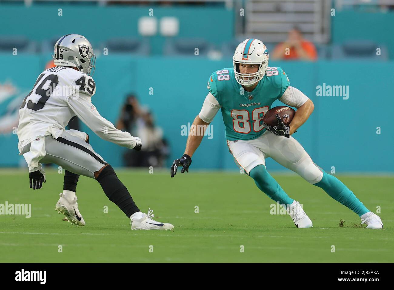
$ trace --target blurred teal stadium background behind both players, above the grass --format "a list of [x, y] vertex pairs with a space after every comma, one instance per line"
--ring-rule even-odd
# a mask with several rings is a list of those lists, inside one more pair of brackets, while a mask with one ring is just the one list
[[[57, 39], [77, 33], [97, 55], [93, 103], [150, 144], [148, 164], [133, 163], [127, 149], [72, 124], [114, 167], [169, 168], [184, 152], [182, 126], [199, 113], [210, 74], [232, 67], [236, 45], [253, 37], [267, 45], [269, 66], [282, 67], [315, 104], [294, 137], [316, 164], [327, 172], [393, 172], [393, 25], [394, 0], [0, 1], [0, 167], [26, 167], [15, 135], [20, 103], [51, 65]], [[275, 59], [294, 28], [316, 55]], [[349, 86], [349, 98], [317, 96], [323, 84]], [[237, 170], [219, 115], [193, 169]], [[267, 167], [286, 170], [272, 160]]]

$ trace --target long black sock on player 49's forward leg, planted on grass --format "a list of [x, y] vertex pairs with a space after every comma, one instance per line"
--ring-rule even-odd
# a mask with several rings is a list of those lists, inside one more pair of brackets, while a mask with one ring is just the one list
[[97, 177], [102, 190], [109, 200], [115, 203], [127, 215], [128, 218], [133, 213], [140, 211], [130, 196], [127, 188], [116, 176], [111, 165], [105, 167]]

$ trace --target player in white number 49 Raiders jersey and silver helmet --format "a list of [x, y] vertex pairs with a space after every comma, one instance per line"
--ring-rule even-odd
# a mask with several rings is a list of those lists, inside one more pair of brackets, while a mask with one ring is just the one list
[[90, 42], [79, 34], [65, 35], [56, 42], [52, 57], [56, 67], [39, 75], [19, 109], [18, 149], [28, 163], [30, 188], [40, 189], [45, 182], [42, 164], [55, 163], [66, 170], [56, 210], [68, 221], [85, 225], [75, 196], [82, 174], [100, 183], [108, 198], [131, 219], [133, 230], [172, 230], [173, 225], [154, 221], [152, 210], [145, 214], [138, 209], [111, 165], [90, 146], [86, 133], [65, 130], [69, 120], [78, 116], [100, 138], [141, 150], [141, 139], [116, 129], [91, 102], [96, 92], [91, 77], [96, 56]]

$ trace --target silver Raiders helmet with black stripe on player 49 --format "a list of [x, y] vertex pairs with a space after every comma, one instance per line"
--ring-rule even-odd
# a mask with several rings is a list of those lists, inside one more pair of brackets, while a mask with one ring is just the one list
[[52, 57], [55, 65], [76, 67], [88, 75], [93, 75], [95, 71], [96, 56], [93, 54], [93, 47], [84, 36], [79, 34], [60, 37], [55, 44]]

